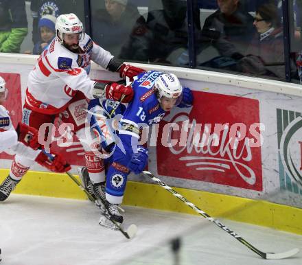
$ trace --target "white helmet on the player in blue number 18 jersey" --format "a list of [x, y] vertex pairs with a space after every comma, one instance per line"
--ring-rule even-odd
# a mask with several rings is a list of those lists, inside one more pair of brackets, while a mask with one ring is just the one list
[[183, 87], [177, 76], [173, 73], [163, 73], [156, 78], [154, 87], [157, 90], [159, 100], [165, 96], [167, 98], [180, 98], [183, 93]]

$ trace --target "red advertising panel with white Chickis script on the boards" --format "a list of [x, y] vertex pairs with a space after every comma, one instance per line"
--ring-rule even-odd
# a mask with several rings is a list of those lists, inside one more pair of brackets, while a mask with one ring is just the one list
[[[194, 91], [194, 102], [188, 113], [178, 108], [161, 121], [158, 173], [262, 191], [261, 145], [251, 144], [260, 138], [258, 100]], [[172, 133], [168, 122], [176, 123]], [[165, 137], [174, 143], [163, 146]]]

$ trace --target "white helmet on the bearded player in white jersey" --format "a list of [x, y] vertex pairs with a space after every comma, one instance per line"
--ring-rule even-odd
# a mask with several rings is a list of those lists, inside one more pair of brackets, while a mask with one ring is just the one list
[[63, 43], [63, 34], [82, 33], [83, 23], [73, 13], [61, 14], [56, 20], [56, 36]]

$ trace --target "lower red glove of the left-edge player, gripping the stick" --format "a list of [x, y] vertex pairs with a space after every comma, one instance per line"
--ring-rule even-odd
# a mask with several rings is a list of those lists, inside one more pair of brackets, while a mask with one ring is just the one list
[[69, 163], [67, 163], [67, 161], [65, 161], [65, 159], [60, 156], [60, 154], [50, 155], [52, 156], [52, 158], [48, 157], [47, 154], [45, 154], [44, 152], [40, 152], [40, 154], [38, 154], [38, 157], [36, 157], [35, 161], [53, 172], [64, 173], [71, 170], [71, 166], [69, 165]]

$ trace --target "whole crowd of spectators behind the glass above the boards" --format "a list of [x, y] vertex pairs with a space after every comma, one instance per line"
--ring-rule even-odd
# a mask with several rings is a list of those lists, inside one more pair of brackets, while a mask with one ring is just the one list
[[0, 52], [40, 54], [71, 12], [121, 60], [302, 82], [302, 0], [0, 0]]

